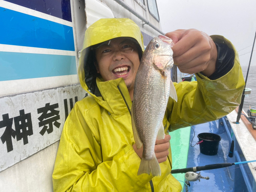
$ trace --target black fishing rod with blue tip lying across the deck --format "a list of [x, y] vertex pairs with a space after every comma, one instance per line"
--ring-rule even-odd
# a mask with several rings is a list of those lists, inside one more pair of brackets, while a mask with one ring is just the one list
[[236, 162], [236, 163], [218, 163], [218, 164], [210, 164], [210, 165], [205, 165], [205, 166], [196, 166], [196, 167], [174, 169], [170, 173], [171, 174], [182, 174], [182, 173], [187, 173], [187, 172], [199, 172], [200, 170], [210, 170], [210, 169], [224, 168], [224, 167], [228, 167], [228, 166], [232, 166], [232, 165], [251, 163], [251, 162], [256, 162], [256, 160], [241, 161], [241, 162]]

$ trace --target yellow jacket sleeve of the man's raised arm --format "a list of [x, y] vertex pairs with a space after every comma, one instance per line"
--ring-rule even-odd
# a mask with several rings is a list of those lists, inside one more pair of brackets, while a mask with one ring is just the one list
[[175, 83], [178, 102], [172, 99], [168, 102], [169, 131], [219, 119], [236, 109], [241, 102], [245, 81], [238, 53], [223, 36], [212, 35], [211, 38], [234, 51], [234, 65], [227, 74], [216, 80], [198, 73], [197, 81]]

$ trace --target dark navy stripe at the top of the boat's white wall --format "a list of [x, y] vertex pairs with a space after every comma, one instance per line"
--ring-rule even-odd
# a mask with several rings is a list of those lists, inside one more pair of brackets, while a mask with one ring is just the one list
[[5, 0], [29, 9], [72, 22], [70, 0]]

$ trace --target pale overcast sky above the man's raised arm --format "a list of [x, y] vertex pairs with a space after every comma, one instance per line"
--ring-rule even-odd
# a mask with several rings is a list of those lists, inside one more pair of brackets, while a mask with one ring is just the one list
[[[248, 66], [256, 31], [255, 0], [157, 0], [157, 6], [164, 33], [195, 28], [223, 35], [238, 50], [241, 65]], [[256, 45], [251, 66], [256, 66], [255, 50]]]

